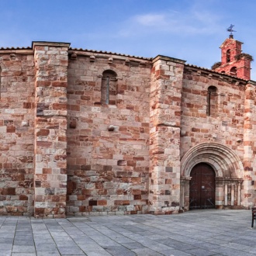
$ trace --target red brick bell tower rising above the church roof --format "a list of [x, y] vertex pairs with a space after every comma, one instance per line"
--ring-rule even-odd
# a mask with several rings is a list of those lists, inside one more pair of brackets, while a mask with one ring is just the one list
[[213, 67], [214, 71], [230, 74], [237, 78], [245, 80], [251, 79], [251, 61], [250, 54], [242, 53], [242, 42], [234, 40], [233, 34], [227, 38], [220, 46], [221, 64], [219, 67]]

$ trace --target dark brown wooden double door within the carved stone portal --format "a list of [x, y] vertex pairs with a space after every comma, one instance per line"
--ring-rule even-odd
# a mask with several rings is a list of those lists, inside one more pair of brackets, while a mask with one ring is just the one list
[[215, 208], [215, 171], [209, 164], [196, 164], [190, 173], [189, 209]]

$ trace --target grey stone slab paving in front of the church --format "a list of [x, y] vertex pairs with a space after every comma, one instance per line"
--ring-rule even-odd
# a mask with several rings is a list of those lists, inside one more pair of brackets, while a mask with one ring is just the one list
[[249, 210], [178, 215], [0, 217], [0, 256], [256, 255]]

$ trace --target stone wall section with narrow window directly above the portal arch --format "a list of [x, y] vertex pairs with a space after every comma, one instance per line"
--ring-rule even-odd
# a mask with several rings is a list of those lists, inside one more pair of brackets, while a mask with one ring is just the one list
[[[182, 87], [181, 157], [196, 144], [214, 142], [230, 147], [243, 160], [245, 85], [243, 80], [186, 66]], [[216, 94], [208, 116], [209, 86], [216, 87]]]

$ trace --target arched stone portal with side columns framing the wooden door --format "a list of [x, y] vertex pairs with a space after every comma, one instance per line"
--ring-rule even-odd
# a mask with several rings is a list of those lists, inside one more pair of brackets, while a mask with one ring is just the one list
[[236, 208], [241, 205], [243, 164], [234, 150], [216, 143], [202, 143], [192, 147], [181, 161], [181, 207], [189, 210], [189, 181], [192, 168], [206, 163], [213, 168], [215, 178], [215, 206]]

